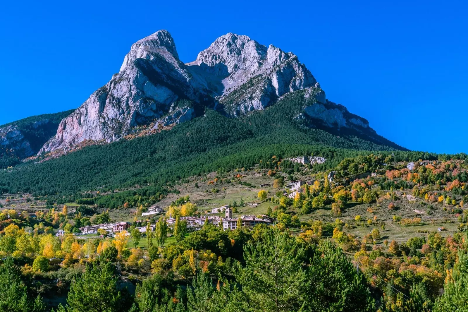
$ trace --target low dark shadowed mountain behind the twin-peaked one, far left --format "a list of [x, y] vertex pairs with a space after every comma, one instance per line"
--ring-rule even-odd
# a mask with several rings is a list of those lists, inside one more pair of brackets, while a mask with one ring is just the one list
[[74, 110], [28, 117], [0, 126], [0, 168], [37, 154], [54, 136], [60, 121]]

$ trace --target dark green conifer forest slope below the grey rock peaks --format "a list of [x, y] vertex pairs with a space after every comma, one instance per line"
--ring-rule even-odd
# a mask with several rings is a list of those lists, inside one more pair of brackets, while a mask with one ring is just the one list
[[402, 160], [429, 158], [428, 153], [399, 151], [403, 148], [390, 141], [388, 145], [377, 144], [363, 134], [337, 136], [301, 126], [292, 117], [305, 104], [306, 100], [293, 94], [239, 119], [207, 110], [203, 117], [169, 131], [89, 146], [57, 159], [35, 160], [0, 171], [0, 189], [9, 193], [72, 193], [102, 186], [165, 184], [219, 169], [251, 167], [272, 155], [326, 157], [327, 162], [317, 165], [317, 170], [334, 168], [345, 157], [371, 151], [397, 153]]

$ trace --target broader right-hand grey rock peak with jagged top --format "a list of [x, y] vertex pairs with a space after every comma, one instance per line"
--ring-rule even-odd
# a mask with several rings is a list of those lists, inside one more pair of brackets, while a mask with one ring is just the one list
[[217, 82], [216, 98], [229, 115], [262, 110], [287, 92], [316, 84], [293, 53], [233, 33], [216, 39], [188, 65]]

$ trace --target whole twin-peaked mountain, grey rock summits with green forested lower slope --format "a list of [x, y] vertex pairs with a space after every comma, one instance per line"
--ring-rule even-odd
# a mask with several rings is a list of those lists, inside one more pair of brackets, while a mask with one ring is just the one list
[[22, 154], [44, 143], [37, 156], [0, 170], [0, 192], [73, 194], [149, 185], [158, 193], [212, 171], [275, 168], [278, 161], [271, 159], [326, 159], [314, 164], [315, 172], [371, 153], [428, 159], [326, 99], [294, 54], [231, 33], [187, 64], [167, 31], [139, 40], [110, 82], [60, 118], [48, 128], [55, 127], [55, 136], [41, 136]]

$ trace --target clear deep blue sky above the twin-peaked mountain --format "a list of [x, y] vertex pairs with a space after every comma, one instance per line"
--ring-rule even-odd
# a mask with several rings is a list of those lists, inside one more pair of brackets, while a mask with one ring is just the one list
[[414, 150], [468, 153], [466, 1], [8, 1], [0, 124], [76, 108], [161, 29], [184, 62], [227, 33], [294, 52], [327, 98]]

